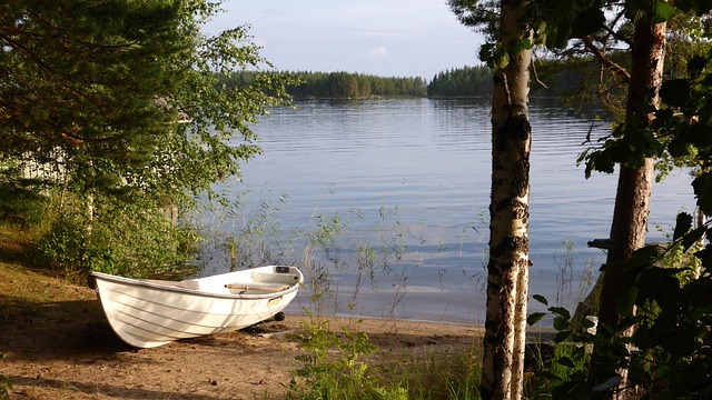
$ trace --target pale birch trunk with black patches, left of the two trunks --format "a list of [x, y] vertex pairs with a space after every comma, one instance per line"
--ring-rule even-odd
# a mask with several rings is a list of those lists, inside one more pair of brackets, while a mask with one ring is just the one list
[[[517, 10], [502, 1], [500, 41], [522, 38]], [[518, 3], [517, 7], [523, 7]], [[531, 50], [510, 52], [496, 70], [492, 103], [490, 261], [481, 396], [522, 398], [528, 284]]]

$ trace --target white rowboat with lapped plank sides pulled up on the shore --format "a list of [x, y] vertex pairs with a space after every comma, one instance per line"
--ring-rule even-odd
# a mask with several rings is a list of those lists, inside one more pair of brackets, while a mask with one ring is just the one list
[[269, 266], [182, 281], [92, 272], [89, 286], [121, 340], [154, 348], [268, 320], [297, 296], [303, 280], [295, 267]]

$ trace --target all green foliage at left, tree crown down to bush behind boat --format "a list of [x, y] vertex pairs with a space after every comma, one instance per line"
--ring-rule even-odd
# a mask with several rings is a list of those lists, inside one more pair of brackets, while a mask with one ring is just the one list
[[[290, 80], [263, 73], [247, 27], [205, 37], [217, 12], [207, 0], [0, 7], [0, 183], [72, 199], [43, 246], [61, 247], [49, 256], [62, 268], [175, 262], [186, 237], [160, 210], [192, 206], [259, 152], [250, 124], [288, 102]], [[251, 84], [218, 78], [241, 69], [257, 71]]]

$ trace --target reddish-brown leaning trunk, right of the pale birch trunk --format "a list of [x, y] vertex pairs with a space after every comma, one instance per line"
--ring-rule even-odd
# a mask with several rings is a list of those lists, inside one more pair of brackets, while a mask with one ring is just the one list
[[[652, 21], [652, 10], [635, 22], [632, 47], [631, 82], [627, 91], [625, 134], [646, 129], [653, 120], [653, 110], [660, 104], [659, 91], [662, 84], [665, 48], [665, 23]], [[621, 166], [615, 208], [611, 226], [613, 249], [609, 250], [606, 269], [601, 291], [599, 310], [600, 326], [614, 327], [621, 321], [617, 304], [620, 283], [625, 262], [633, 251], [645, 244], [645, 231], [650, 213], [650, 198], [653, 186], [653, 159], [646, 158], [637, 168]], [[633, 312], [635, 310], [627, 310]], [[600, 329], [603, 334], [605, 331]], [[629, 332], [632, 333], [632, 332]], [[600, 383], [614, 377], [623, 378], [620, 388], [626, 384], [626, 371], [615, 371], [612, 366], [601, 364], [596, 356], [591, 364], [591, 377]]]

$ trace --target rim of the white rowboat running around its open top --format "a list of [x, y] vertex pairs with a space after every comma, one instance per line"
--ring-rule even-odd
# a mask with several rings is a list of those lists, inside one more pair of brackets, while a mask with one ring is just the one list
[[[269, 266], [269, 267], [283, 267], [283, 266]], [[284, 267], [289, 267], [289, 266], [284, 266]], [[265, 268], [265, 267], [258, 267], [258, 268], [255, 268], [255, 270], [258, 270], [259, 268]], [[149, 281], [149, 280], [138, 279], [138, 278], [119, 277], [119, 276], [115, 276], [106, 272], [99, 272], [99, 271], [91, 272], [90, 279], [91, 278], [101, 279], [116, 284], [134, 286], [134, 287], [159, 290], [159, 291], [185, 293], [185, 294], [199, 296], [199, 297], [211, 297], [217, 299], [233, 299], [233, 300], [236, 300], [236, 299], [259, 300], [259, 299], [275, 299], [275, 298], [283, 297], [299, 290], [299, 286], [304, 281], [304, 276], [301, 274], [298, 268], [295, 268], [295, 267], [289, 267], [289, 268], [295, 269], [297, 273], [296, 274], [284, 273], [284, 274], [297, 277], [298, 280], [295, 283], [290, 283], [289, 288], [285, 290], [280, 290], [276, 292], [266, 292], [266, 293], [216, 293], [216, 292], [210, 292], [210, 291], [205, 291], [199, 289], [180, 288], [180, 287], [170, 286], [170, 284], [161, 284], [156, 280]], [[249, 270], [245, 270], [245, 271], [249, 271]], [[231, 273], [231, 272], [226, 272], [224, 274], [228, 274], [228, 273]], [[217, 276], [211, 276], [211, 277], [217, 277]], [[205, 277], [205, 278], [211, 278], [211, 277]], [[199, 281], [200, 279], [202, 278], [191, 279], [190, 281]], [[166, 281], [166, 282], [178, 283], [180, 281]], [[255, 282], [255, 283], [259, 283], [259, 282]], [[95, 284], [93, 289], [97, 292], [99, 292], [98, 286]]]

